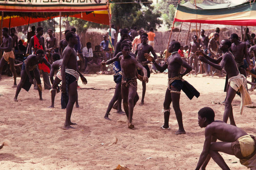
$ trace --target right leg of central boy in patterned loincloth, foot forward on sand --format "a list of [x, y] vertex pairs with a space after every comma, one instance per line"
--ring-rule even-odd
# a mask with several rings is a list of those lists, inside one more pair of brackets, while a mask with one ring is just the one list
[[136, 96], [137, 89], [134, 86], [129, 86], [129, 94], [128, 94], [128, 106], [129, 106], [129, 118], [128, 118], [128, 128], [134, 128], [132, 124], [132, 116], [134, 109], [134, 97]]

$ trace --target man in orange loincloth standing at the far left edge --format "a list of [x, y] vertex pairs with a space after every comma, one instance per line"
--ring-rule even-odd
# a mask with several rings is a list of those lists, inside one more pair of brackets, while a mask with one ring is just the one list
[[17, 87], [16, 71], [14, 68], [15, 56], [12, 51], [13, 39], [11, 36], [8, 35], [8, 28], [6, 27], [3, 28], [2, 34], [3, 34], [3, 43], [0, 46], [0, 50], [3, 50], [4, 53], [3, 53], [3, 57], [0, 60], [0, 80], [1, 80], [1, 73], [3, 70], [3, 66], [7, 62], [10, 64], [10, 70], [12, 71], [12, 74], [13, 74], [13, 79], [14, 79], [13, 87]]

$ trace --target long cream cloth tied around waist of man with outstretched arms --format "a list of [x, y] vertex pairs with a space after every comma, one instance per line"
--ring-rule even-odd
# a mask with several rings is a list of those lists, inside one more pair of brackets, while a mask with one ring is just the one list
[[246, 78], [243, 74], [238, 74], [237, 76], [230, 77], [228, 80], [229, 86], [232, 87], [235, 91], [241, 93], [241, 104], [240, 104], [240, 114], [243, 113], [244, 105], [252, 105], [252, 100], [246, 89]]

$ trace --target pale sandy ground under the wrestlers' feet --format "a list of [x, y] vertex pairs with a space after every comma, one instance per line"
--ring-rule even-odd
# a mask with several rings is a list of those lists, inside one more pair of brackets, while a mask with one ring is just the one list
[[[164, 120], [161, 112], [167, 87], [166, 74], [151, 74], [145, 105], [134, 108], [133, 130], [127, 128], [126, 116], [116, 114], [113, 109], [109, 116], [112, 120], [103, 119], [114, 94], [114, 89], [110, 89], [115, 87], [112, 75], [85, 77], [87, 85], [79, 80], [80, 108], [74, 108], [71, 117], [78, 125], [72, 130], [61, 129], [66, 110], [61, 109], [60, 93], [56, 95], [55, 108], [47, 108], [50, 105], [49, 90], [43, 90], [44, 101], [40, 101], [36, 90], [31, 88], [26, 92], [22, 89], [18, 102], [14, 102], [13, 79], [3, 77], [0, 81], [0, 94], [3, 95], [0, 96], [0, 142], [8, 139], [11, 146], [0, 150], [0, 170], [112, 170], [118, 164], [131, 170], [191, 170], [197, 165], [204, 142], [204, 128], [197, 123], [198, 110], [212, 107], [216, 120], [222, 120], [224, 105], [212, 102], [224, 101], [224, 78], [185, 77], [198, 89], [200, 97], [189, 100], [181, 93], [180, 107], [186, 134], [175, 135], [178, 125], [173, 110], [169, 120], [171, 129], [159, 128]], [[140, 97], [141, 92], [142, 86], [138, 82]], [[250, 95], [255, 102], [256, 91]], [[234, 98], [233, 105], [237, 126], [255, 135], [256, 110], [244, 107], [243, 115], [240, 115], [239, 96]], [[115, 138], [118, 142], [112, 144]], [[231, 169], [247, 169], [239, 164], [238, 158], [225, 153], [221, 155]], [[220, 167], [211, 160], [207, 169], [219, 170]]]

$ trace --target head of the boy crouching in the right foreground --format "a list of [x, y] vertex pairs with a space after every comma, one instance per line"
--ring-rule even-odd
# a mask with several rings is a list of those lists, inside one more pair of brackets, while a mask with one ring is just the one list
[[215, 113], [211, 107], [203, 107], [198, 111], [198, 125], [204, 128], [214, 121], [214, 117]]

